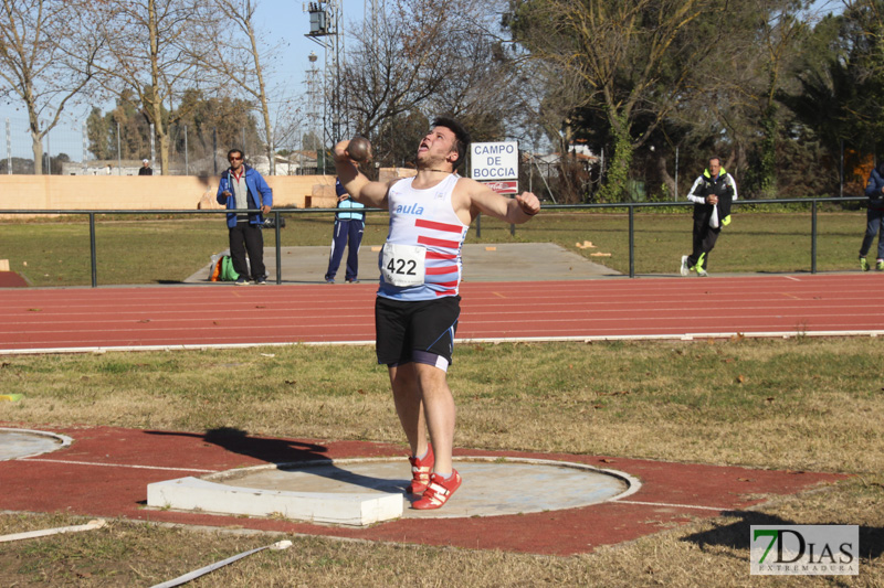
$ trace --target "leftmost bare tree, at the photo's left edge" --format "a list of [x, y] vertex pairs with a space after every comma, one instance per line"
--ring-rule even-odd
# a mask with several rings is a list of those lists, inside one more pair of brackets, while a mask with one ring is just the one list
[[76, 2], [2, 0], [0, 95], [24, 105], [36, 174], [43, 173], [43, 137], [95, 74], [101, 39], [78, 20]]

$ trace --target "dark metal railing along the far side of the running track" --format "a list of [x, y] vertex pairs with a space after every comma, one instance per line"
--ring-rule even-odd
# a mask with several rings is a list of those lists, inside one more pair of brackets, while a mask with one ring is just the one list
[[[818, 212], [819, 212], [819, 204], [821, 203], [839, 203], [844, 204], [848, 202], [866, 202], [866, 197], [817, 197], [817, 199], [785, 199], [785, 200], [754, 200], [754, 201], [736, 201], [734, 202], [734, 206], [745, 206], [745, 205], [753, 205], [753, 206], [765, 206], [765, 205], [782, 205], [782, 204], [801, 204], [801, 205], [809, 205], [810, 213], [811, 213], [811, 224], [808, 231], [809, 237], [809, 249], [810, 249], [810, 272], [817, 272], [817, 237], [818, 237]], [[654, 209], [654, 207], [680, 207], [680, 206], [693, 206], [690, 202], [653, 202], [653, 203], [621, 203], [621, 204], [575, 204], [575, 205], [545, 205], [545, 211], [586, 211], [586, 210], [594, 210], [594, 209], [627, 209], [628, 211], [628, 237], [629, 237], [629, 277], [635, 277], [635, 210], [636, 209]], [[282, 215], [286, 216], [297, 216], [303, 214], [316, 214], [316, 213], [328, 213], [334, 214], [337, 210], [336, 209], [274, 209], [271, 212], [270, 217], [273, 218], [273, 229], [275, 231], [275, 249], [276, 249], [276, 284], [282, 284], [282, 255], [281, 255], [281, 234], [280, 228], [282, 225], [281, 217]], [[204, 210], [204, 211], [193, 211], [193, 210], [139, 210], [139, 211], [116, 211], [116, 210], [87, 210], [87, 211], [65, 211], [65, 210], [53, 210], [53, 211], [45, 211], [45, 210], [11, 210], [11, 211], [0, 211], [2, 214], [10, 214], [10, 215], [87, 215], [88, 216], [88, 225], [90, 225], [90, 257], [91, 257], [91, 276], [92, 276], [92, 287], [96, 288], [98, 286], [98, 274], [97, 274], [97, 255], [96, 255], [96, 244], [95, 244], [95, 217], [96, 215], [220, 215], [227, 214], [224, 210]], [[250, 211], [250, 212], [259, 212], [259, 211]], [[366, 209], [366, 212], [369, 214], [375, 213], [387, 213], [386, 210], [380, 209]], [[511, 225], [509, 227], [511, 234], [516, 234], [515, 225]], [[476, 236], [481, 237], [482, 235], [482, 221], [481, 216], [476, 220]]]

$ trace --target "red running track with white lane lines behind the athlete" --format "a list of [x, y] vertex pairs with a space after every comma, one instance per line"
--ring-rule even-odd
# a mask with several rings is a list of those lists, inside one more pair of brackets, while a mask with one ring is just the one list
[[[0, 289], [0, 352], [373, 342], [376, 285]], [[884, 274], [464, 282], [460, 340], [884, 334]]]

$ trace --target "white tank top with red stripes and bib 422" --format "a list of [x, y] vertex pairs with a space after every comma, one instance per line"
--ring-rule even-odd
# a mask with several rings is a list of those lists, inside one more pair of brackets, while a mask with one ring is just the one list
[[451, 203], [459, 178], [451, 174], [427, 190], [412, 188], [414, 178], [390, 188], [390, 232], [378, 261], [378, 296], [393, 300], [457, 296], [461, 250], [470, 229]]

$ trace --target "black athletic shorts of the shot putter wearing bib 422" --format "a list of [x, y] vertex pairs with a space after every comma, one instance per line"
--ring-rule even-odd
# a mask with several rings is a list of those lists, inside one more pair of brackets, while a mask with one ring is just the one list
[[375, 333], [378, 363], [398, 365], [409, 362], [436, 365], [433, 356], [451, 363], [454, 333], [461, 314], [461, 297], [445, 296], [436, 300], [406, 302], [377, 297]]

